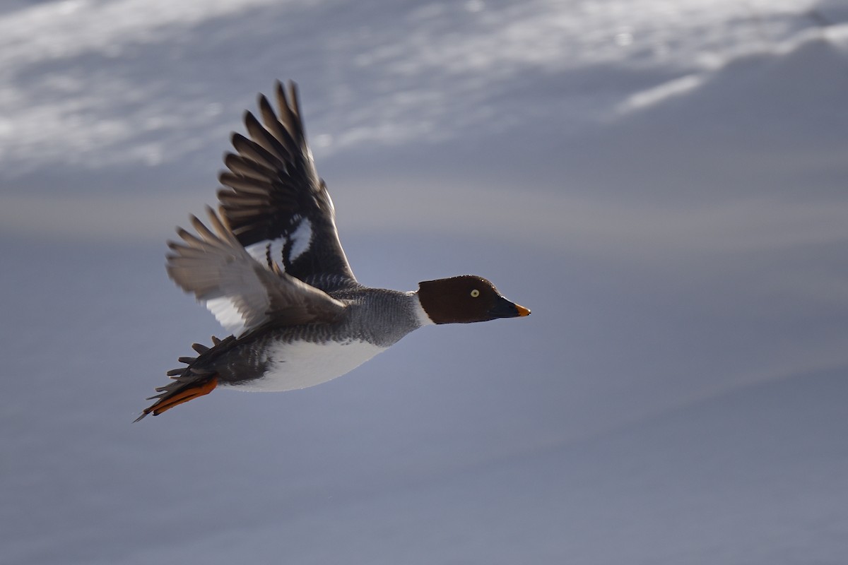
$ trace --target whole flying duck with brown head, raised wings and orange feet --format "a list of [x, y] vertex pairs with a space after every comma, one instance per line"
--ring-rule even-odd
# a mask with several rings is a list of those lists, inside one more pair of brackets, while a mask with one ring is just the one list
[[291, 391], [348, 373], [412, 330], [527, 316], [475, 275], [419, 283], [417, 291], [360, 285], [338, 240], [335, 211], [315, 170], [301, 120], [297, 86], [276, 82], [275, 112], [259, 95], [259, 115], [245, 112], [248, 137], [232, 134], [220, 173], [217, 211], [194, 233], [177, 228], [166, 269], [232, 333], [156, 389], [136, 421], [159, 415], [218, 386]]

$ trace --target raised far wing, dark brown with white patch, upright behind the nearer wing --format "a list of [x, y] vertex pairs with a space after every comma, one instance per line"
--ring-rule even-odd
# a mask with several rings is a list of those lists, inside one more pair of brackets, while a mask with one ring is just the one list
[[[276, 82], [279, 115], [259, 95], [259, 114], [244, 114], [250, 139], [232, 135], [236, 153], [224, 158], [221, 210], [237, 240], [260, 263], [279, 262], [287, 274], [324, 290], [355, 284], [338, 241], [335, 211], [315, 170], [300, 118], [297, 86]], [[329, 275], [329, 276], [327, 276]]]

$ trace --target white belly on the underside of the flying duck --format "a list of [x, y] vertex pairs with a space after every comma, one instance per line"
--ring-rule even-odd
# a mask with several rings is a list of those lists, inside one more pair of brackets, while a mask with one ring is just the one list
[[386, 347], [367, 341], [281, 343], [268, 354], [265, 376], [232, 385], [240, 391], [280, 392], [320, 385], [359, 367]]

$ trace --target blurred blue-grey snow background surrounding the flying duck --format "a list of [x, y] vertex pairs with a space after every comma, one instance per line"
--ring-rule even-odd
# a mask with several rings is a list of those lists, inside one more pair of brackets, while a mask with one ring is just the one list
[[[533, 315], [132, 424], [276, 78], [360, 281]], [[0, 562], [844, 563], [846, 151], [836, 0], [3, 3]]]

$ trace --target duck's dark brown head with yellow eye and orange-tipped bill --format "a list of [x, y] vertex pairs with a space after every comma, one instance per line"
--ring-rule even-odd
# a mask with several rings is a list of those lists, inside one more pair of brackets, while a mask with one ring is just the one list
[[488, 280], [473, 274], [418, 284], [418, 298], [435, 324], [468, 324], [527, 316], [530, 311], [508, 301]]

